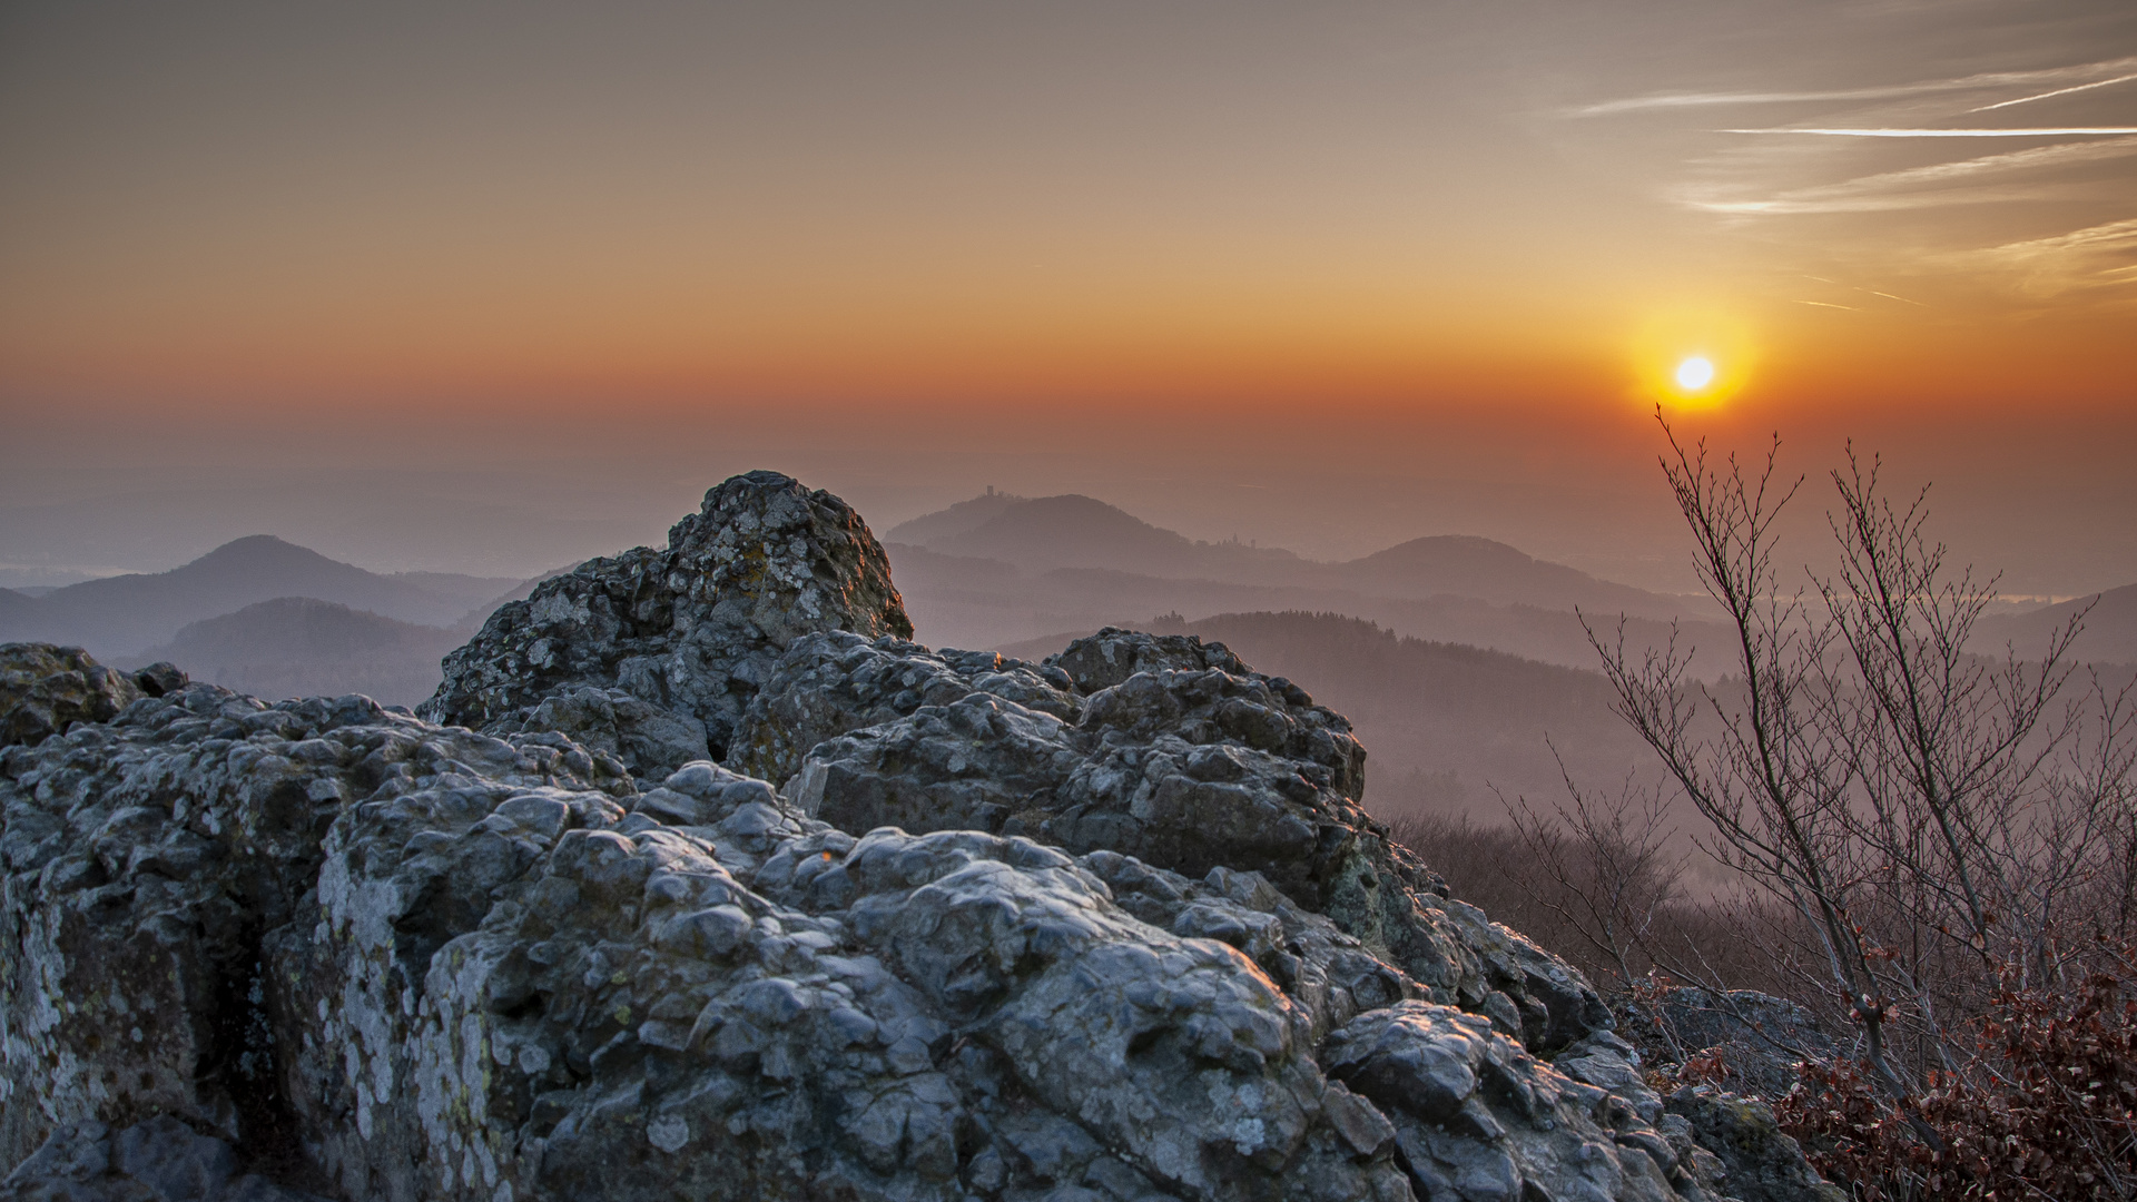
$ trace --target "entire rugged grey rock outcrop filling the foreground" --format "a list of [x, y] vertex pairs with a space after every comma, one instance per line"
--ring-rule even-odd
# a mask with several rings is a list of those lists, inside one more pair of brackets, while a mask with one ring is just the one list
[[177, 684], [0, 751], [0, 1200], [1829, 1189], [1701, 1146], [1757, 1116], [1656, 1097], [1289, 682], [902, 642], [769, 473], [675, 530], [500, 610], [464, 725]]

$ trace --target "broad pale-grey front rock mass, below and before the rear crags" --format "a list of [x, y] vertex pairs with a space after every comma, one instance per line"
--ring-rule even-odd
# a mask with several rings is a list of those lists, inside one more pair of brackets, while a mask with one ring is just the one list
[[626, 808], [549, 740], [197, 684], [11, 751], [9, 1157], [177, 1114], [353, 1198], [1410, 1198], [1312, 1014], [1068, 856], [712, 764]]

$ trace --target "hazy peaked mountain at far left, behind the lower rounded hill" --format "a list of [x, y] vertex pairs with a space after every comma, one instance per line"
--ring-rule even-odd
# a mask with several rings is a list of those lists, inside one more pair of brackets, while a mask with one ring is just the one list
[[524, 584], [444, 571], [383, 575], [254, 535], [152, 575], [88, 580], [43, 597], [0, 590], [0, 642], [62, 642], [120, 659], [171, 639], [190, 622], [278, 597], [310, 597], [402, 622], [451, 627]]

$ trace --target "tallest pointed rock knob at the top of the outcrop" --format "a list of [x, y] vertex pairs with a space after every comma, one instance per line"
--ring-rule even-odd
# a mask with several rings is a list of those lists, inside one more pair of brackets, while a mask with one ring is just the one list
[[[669, 530], [667, 550], [637, 548], [547, 580], [502, 605], [444, 661], [425, 719], [492, 734], [528, 729], [543, 699], [573, 687], [620, 689], [701, 727], [727, 755], [735, 723], [797, 637], [814, 631], [910, 635], [891, 567], [840, 498], [778, 473], [737, 475]], [[643, 725], [643, 723], [633, 723]], [[637, 764], [669, 768], [665, 749]]]

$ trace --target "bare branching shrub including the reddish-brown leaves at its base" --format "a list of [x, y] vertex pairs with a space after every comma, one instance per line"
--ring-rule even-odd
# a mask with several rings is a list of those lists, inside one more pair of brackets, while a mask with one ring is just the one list
[[1996, 582], [1947, 571], [1925, 498], [1887, 500], [1874, 458], [1831, 475], [1836, 575], [1784, 588], [1774, 522], [1801, 479], [1776, 477], [1778, 438], [1746, 471], [1665, 436], [1735, 678], [1590, 639], [1703, 847], [1767, 900], [1776, 992], [1853, 1024], [1855, 1059], [1808, 1065], [1789, 1123], [1866, 1196], [2131, 1198], [2128, 689], [2064, 663], [2081, 616], [2034, 659], [1970, 654]]

